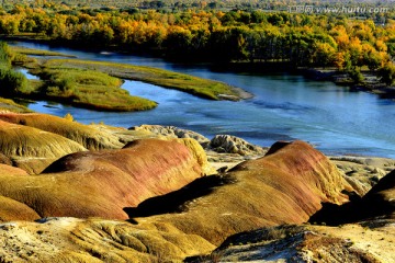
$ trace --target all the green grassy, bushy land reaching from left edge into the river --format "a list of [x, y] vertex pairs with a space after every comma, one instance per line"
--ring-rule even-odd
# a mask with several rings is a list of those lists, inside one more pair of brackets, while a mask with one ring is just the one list
[[[40, 59], [58, 53], [0, 46], [2, 88], [5, 98], [52, 100], [99, 111], [144, 111], [156, 102], [133, 96], [121, 88], [123, 79], [138, 80], [178, 89], [211, 100], [239, 100], [241, 93], [228, 84], [149, 67], [78, 59]], [[12, 65], [27, 67], [40, 80], [26, 80]]]

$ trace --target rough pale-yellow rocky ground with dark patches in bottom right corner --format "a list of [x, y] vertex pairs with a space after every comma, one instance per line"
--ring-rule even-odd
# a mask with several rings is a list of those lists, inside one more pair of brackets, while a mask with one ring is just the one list
[[395, 262], [394, 221], [365, 225], [280, 226], [235, 235], [206, 256], [189, 263], [208, 262]]

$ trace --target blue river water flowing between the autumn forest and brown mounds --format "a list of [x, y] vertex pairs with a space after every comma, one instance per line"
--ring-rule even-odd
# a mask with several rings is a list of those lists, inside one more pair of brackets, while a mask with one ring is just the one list
[[203, 66], [185, 66], [158, 58], [111, 53], [88, 53], [43, 44], [14, 43], [75, 55], [81, 59], [143, 65], [227, 82], [255, 94], [229, 102], [207, 101], [176, 90], [126, 81], [131, 94], [159, 103], [147, 112], [108, 113], [49, 102], [30, 108], [57, 116], [70, 113], [81, 123], [104, 122], [131, 127], [142, 124], [173, 125], [201, 133], [239, 136], [260, 146], [276, 140], [302, 139], [327, 155], [362, 155], [395, 158], [395, 102], [365, 92], [352, 92], [327, 81], [292, 75], [215, 72]]

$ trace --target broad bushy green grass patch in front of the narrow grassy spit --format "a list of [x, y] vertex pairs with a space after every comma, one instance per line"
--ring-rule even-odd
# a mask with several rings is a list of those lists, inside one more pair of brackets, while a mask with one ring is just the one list
[[156, 102], [132, 96], [121, 89], [123, 81], [104, 72], [89, 69], [44, 65], [42, 82], [30, 82], [35, 93], [47, 99], [101, 111], [144, 111]]

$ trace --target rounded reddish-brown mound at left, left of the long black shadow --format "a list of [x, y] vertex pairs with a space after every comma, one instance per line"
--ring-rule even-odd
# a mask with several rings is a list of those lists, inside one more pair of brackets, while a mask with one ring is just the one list
[[0, 174], [0, 195], [26, 204], [41, 217], [127, 219], [125, 207], [201, 175], [202, 168], [184, 145], [149, 139], [120, 150], [68, 155], [37, 176]]

